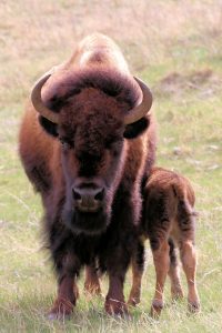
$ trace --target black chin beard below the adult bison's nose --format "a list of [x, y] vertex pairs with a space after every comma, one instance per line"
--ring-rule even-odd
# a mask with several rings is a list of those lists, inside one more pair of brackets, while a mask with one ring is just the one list
[[104, 212], [103, 209], [93, 213], [64, 209], [62, 221], [74, 234], [98, 235], [107, 230], [110, 223], [110, 213]]

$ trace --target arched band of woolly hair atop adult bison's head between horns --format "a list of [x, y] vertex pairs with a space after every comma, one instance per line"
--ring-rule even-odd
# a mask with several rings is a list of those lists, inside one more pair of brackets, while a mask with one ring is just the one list
[[[132, 109], [140, 98], [140, 90], [135, 81], [115, 69], [84, 68], [79, 70], [62, 71], [50, 78], [43, 94], [43, 101], [54, 112], [60, 111], [65, 101], [79, 94], [83, 89], [93, 88], [108, 97], [114, 98], [119, 105], [124, 103]], [[85, 102], [85, 97], [84, 97]]]

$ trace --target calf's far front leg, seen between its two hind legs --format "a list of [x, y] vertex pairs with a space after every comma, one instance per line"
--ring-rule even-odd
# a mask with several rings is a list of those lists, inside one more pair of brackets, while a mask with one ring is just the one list
[[170, 270], [168, 272], [171, 280], [171, 295], [173, 300], [183, 297], [183, 291], [180, 280], [180, 266], [178, 263], [178, 258], [175, 253], [175, 246], [173, 240], [169, 240], [170, 245]]

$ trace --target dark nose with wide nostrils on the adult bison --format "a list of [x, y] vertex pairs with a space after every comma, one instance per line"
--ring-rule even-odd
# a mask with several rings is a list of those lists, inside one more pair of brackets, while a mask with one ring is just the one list
[[73, 188], [74, 205], [82, 212], [97, 212], [104, 198], [104, 189]]

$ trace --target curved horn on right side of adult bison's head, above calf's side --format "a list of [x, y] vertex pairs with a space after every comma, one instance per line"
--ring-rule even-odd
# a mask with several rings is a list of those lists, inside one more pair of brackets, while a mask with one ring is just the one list
[[134, 109], [129, 111], [129, 114], [127, 114], [124, 118], [124, 124], [130, 124], [130, 123], [133, 123], [133, 122], [140, 120], [142, 117], [144, 117], [149, 112], [149, 110], [152, 105], [152, 93], [151, 93], [150, 89], [140, 79], [138, 79], [135, 77], [134, 77], [134, 79], [138, 82], [138, 84], [140, 85], [140, 89], [142, 91], [142, 102], [138, 107], [135, 107]]

